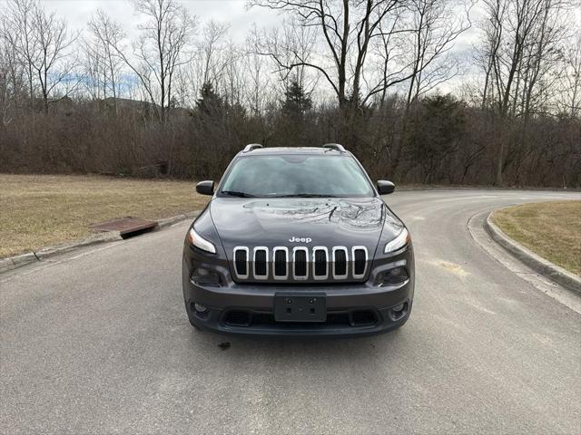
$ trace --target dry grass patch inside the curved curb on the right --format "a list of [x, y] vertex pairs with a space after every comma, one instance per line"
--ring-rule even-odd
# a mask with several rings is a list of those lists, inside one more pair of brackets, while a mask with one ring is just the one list
[[543, 202], [498, 210], [494, 223], [508, 237], [581, 275], [581, 201]]

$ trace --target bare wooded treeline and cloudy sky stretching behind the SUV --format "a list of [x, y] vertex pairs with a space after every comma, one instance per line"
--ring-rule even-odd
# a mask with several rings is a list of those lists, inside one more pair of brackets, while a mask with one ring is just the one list
[[133, 34], [102, 10], [74, 32], [0, 3], [0, 171], [218, 179], [247, 143], [339, 142], [376, 179], [581, 187], [578, 1], [248, 6], [283, 20], [233, 41], [136, 0]]

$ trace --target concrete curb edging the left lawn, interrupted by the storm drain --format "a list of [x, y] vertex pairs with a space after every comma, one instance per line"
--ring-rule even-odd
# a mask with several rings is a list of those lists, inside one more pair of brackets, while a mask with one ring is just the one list
[[[195, 218], [200, 214], [200, 211], [201, 210], [194, 210], [183, 215], [173, 216], [172, 218], [160, 219], [157, 221], [157, 227], [155, 229], [170, 227], [173, 224], [181, 222], [182, 220]], [[84, 237], [80, 240], [76, 240], [70, 243], [54, 245], [53, 247], [43, 247], [36, 252], [27, 252], [19, 256], [0, 258], [0, 274], [15, 269], [16, 267], [29, 265], [36, 261], [44, 260], [44, 258], [48, 258], [50, 256], [57, 256], [59, 254], [64, 254], [81, 247], [90, 247], [99, 243], [113, 242], [115, 240], [123, 240], [123, 238], [119, 235], [118, 231], [109, 231], [106, 233], [94, 234], [89, 237]]]

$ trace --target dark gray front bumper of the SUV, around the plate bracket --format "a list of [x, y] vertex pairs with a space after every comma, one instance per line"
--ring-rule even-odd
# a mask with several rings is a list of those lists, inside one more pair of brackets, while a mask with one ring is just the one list
[[[253, 336], [333, 336], [346, 337], [385, 333], [405, 324], [414, 293], [413, 251], [411, 247], [382, 261], [379, 272], [390, 266], [406, 265], [409, 279], [397, 285], [368, 282], [341, 285], [237, 284], [227, 265], [208, 263], [208, 257], [186, 244], [182, 263], [182, 286], [190, 322], [206, 330]], [[221, 286], [199, 285], [192, 281], [198, 266], [212, 266], [224, 276]], [[276, 322], [274, 298], [279, 292], [324, 293], [327, 321], [321, 323]], [[205, 307], [196, 310], [195, 304]], [[403, 304], [398, 312], [394, 307]]]

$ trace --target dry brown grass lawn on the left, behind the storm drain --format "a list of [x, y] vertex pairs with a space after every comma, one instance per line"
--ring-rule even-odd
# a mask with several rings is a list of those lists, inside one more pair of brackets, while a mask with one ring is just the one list
[[87, 236], [112, 218], [169, 218], [208, 198], [192, 181], [0, 174], [0, 258]]

